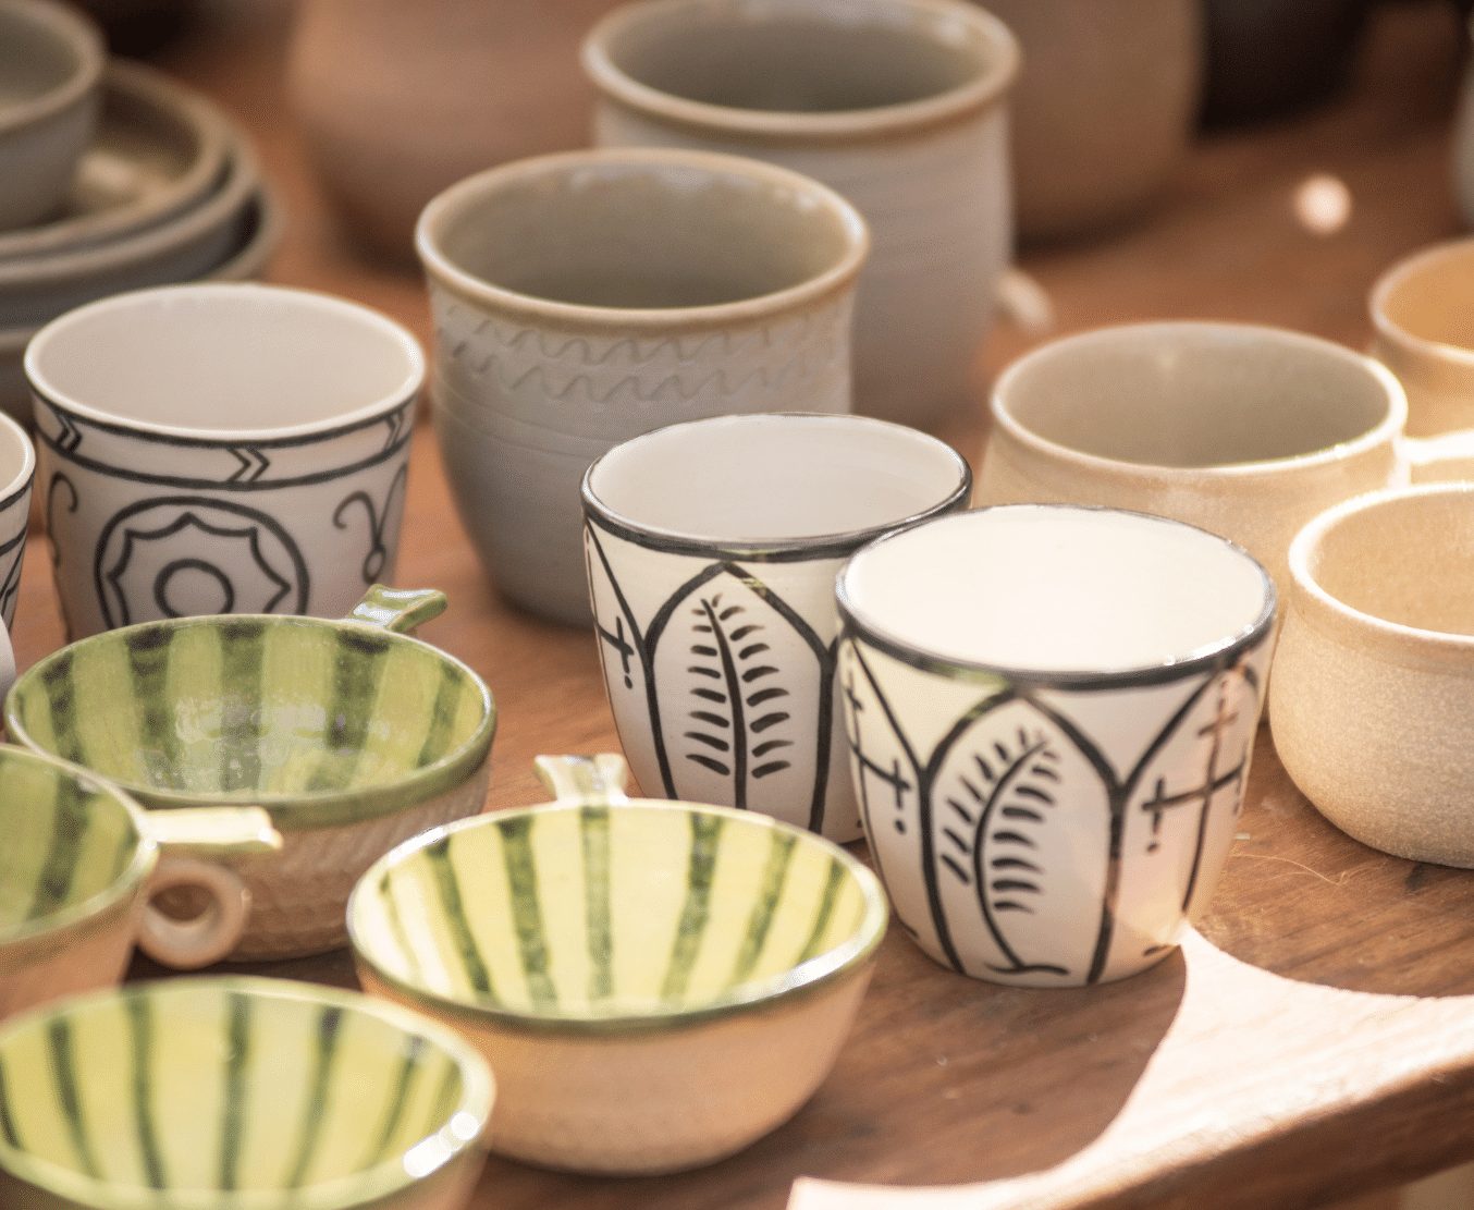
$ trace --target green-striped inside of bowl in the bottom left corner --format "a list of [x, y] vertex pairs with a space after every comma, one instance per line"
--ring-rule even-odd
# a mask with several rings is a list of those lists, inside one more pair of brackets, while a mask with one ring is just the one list
[[461, 1097], [460, 1067], [427, 1038], [228, 980], [25, 1018], [0, 1036], [0, 1073], [10, 1148], [164, 1195], [351, 1181], [439, 1133]]

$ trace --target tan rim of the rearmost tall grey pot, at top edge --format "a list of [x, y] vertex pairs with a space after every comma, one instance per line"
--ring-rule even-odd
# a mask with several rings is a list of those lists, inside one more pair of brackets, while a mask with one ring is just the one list
[[[912, 130], [924, 130], [973, 113], [998, 102], [1019, 74], [1021, 55], [1013, 32], [992, 13], [958, 0], [883, 0], [896, 13], [911, 13], [920, 21], [948, 22], [965, 28], [979, 46], [996, 56], [992, 65], [967, 84], [921, 100], [877, 105], [867, 109], [803, 113], [688, 100], [649, 84], [643, 84], [615, 62], [613, 47], [622, 34], [644, 24], [685, 21], [696, 24], [709, 12], [740, 12], [752, 0], [646, 0], [626, 4], [600, 21], [584, 40], [584, 71], [594, 85], [609, 97], [638, 112], [690, 127], [719, 130], [731, 134], [759, 136], [792, 141], [846, 141], [876, 139]], [[794, 4], [784, 16], [817, 16], [834, 12], [834, 4]], [[853, 16], [842, 25], [852, 25]], [[924, 37], [917, 31], [918, 40]], [[933, 41], [942, 43], [940, 35]], [[955, 44], [955, 40], [954, 40]]]

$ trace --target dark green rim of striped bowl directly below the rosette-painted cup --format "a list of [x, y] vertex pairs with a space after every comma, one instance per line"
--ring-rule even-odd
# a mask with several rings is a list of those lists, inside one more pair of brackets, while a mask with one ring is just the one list
[[464, 660], [457, 659], [450, 651], [444, 651], [423, 638], [398, 634], [395, 631], [376, 626], [368, 622], [357, 622], [335, 618], [312, 618], [307, 615], [289, 613], [226, 613], [205, 618], [167, 618], [158, 622], [137, 622], [131, 626], [119, 626], [112, 631], [88, 635], [87, 638], [69, 643], [56, 651], [43, 656], [28, 668], [10, 688], [4, 699], [4, 725], [13, 743], [24, 746], [29, 752], [44, 756], [56, 756], [43, 747], [35, 737], [27, 731], [21, 718], [19, 702], [22, 687], [35, 685], [59, 660], [75, 654], [81, 647], [90, 644], [103, 646], [108, 643], [125, 643], [127, 635], [150, 628], [165, 626], [168, 629], [214, 628], [228, 626], [240, 622], [264, 622], [271, 626], [299, 626], [304, 629], [349, 629], [363, 631], [383, 638], [389, 644], [410, 644], [427, 650], [435, 659], [453, 665], [463, 676], [475, 685], [482, 704], [481, 722], [476, 730], [439, 760], [422, 765], [408, 774], [392, 781], [374, 786], [349, 787], [343, 790], [318, 791], [276, 791], [262, 793], [259, 790], [237, 790], [228, 793], [190, 793], [189, 790], [162, 790], [144, 786], [127, 778], [108, 777], [94, 772], [94, 777], [106, 780], [124, 793], [136, 797], [146, 809], [170, 811], [178, 808], [214, 808], [214, 806], [259, 806], [271, 815], [271, 822], [283, 831], [299, 831], [308, 828], [333, 827], [340, 824], [361, 824], [367, 819], [377, 819], [392, 815], [410, 806], [426, 802], [457, 786], [464, 784], [489, 758], [492, 740], [497, 734], [497, 702], [491, 688], [481, 674]]

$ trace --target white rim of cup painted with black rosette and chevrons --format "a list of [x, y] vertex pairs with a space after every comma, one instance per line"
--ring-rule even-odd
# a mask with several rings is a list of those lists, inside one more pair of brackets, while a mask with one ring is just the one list
[[[385, 342], [395, 345], [395, 348], [404, 355], [404, 377], [399, 379], [399, 382], [392, 388], [380, 394], [379, 398], [367, 404], [360, 404], [355, 408], [346, 408], [335, 416], [323, 417], [321, 420], [307, 422], [302, 424], [282, 424], [265, 429], [190, 429], [178, 424], [140, 422], [128, 416], [106, 411], [57, 389], [50, 376], [46, 373], [49, 346], [57, 339], [59, 335], [72, 335], [75, 329], [85, 327], [87, 323], [97, 315], [111, 315], [136, 308], [147, 314], [158, 302], [171, 299], [181, 302], [199, 299], [203, 301], [205, 305], [220, 307], [233, 305], [236, 301], [245, 301], [248, 305], [295, 307], [302, 311], [304, 318], [307, 320], [310, 320], [315, 312], [349, 318], [383, 338]], [[159, 321], [161, 320], [156, 314], [149, 315], [150, 324], [156, 324]], [[249, 321], [249, 318], [245, 321]], [[75, 311], [68, 311], [60, 318], [53, 320], [43, 327], [31, 339], [31, 343], [25, 349], [25, 374], [27, 379], [29, 379], [32, 389], [47, 402], [91, 420], [102, 427], [111, 427], [122, 432], [152, 433], [156, 436], [178, 438], [205, 444], [231, 444], [327, 436], [343, 429], [357, 427], [388, 411], [394, 411], [413, 399], [425, 383], [425, 352], [405, 327], [395, 323], [388, 315], [357, 302], [335, 298], [333, 295], [318, 293], [315, 290], [301, 290], [286, 286], [215, 281], [206, 284], [158, 286], [149, 290], [134, 290], [131, 293], [113, 295], [112, 298], [90, 302], [85, 307], [78, 307]]]

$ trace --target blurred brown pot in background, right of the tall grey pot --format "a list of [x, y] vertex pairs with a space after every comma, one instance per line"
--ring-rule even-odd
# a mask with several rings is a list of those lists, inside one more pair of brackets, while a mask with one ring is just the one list
[[1187, 156], [1203, 84], [1201, 0], [985, 0], [1023, 49], [1008, 105], [1019, 234], [1144, 214]]

